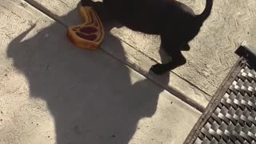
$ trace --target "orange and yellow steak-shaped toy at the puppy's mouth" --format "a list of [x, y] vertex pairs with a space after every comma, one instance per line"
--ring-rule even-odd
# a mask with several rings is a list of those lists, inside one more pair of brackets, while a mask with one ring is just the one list
[[104, 29], [98, 14], [90, 6], [81, 6], [79, 13], [84, 23], [70, 26], [67, 30], [67, 38], [80, 48], [98, 50], [104, 37]]

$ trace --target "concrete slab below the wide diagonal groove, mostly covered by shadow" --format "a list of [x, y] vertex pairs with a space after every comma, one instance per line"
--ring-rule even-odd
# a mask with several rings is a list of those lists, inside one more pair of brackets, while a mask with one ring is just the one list
[[26, 2], [0, 0], [0, 15], [1, 144], [182, 143], [198, 120], [102, 50], [78, 50], [65, 26]]

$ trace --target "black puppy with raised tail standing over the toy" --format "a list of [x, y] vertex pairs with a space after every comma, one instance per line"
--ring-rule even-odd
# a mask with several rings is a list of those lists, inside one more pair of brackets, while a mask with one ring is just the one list
[[[82, 6], [98, 7], [100, 2], [82, 0]], [[206, 0], [206, 8], [199, 15], [195, 15], [189, 6], [174, 0], [103, 0], [101, 6], [101, 10], [106, 10], [131, 30], [161, 36], [162, 48], [172, 60], [156, 64], [150, 70], [163, 74], [186, 63], [180, 48], [188, 46], [188, 42], [198, 34], [210, 15], [213, 0]]]

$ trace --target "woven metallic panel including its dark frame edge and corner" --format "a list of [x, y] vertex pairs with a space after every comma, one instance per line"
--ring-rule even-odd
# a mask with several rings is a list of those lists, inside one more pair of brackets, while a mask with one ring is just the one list
[[247, 52], [243, 51], [246, 58], [222, 82], [185, 143], [256, 144], [256, 61]]

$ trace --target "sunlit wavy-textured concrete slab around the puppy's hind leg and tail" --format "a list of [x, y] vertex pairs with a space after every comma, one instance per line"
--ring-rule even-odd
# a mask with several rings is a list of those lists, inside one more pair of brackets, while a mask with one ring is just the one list
[[[196, 14], [200, 14], [205, 0], [186, 1]], [[114, 35], [143, 51], [150, 58], [161, 62], [158, 36], [139, 34], [126, 27], [113, 30]], [[256, 1], [214, 0], [212, 14], [201, 32], [190, 42], [190, 51], [184, 52], [188, 62], [174, 70], [175, 74], [213, 95], [223, 78], [234, 65], [234, 50], [243, 42], [256, 45]]]

